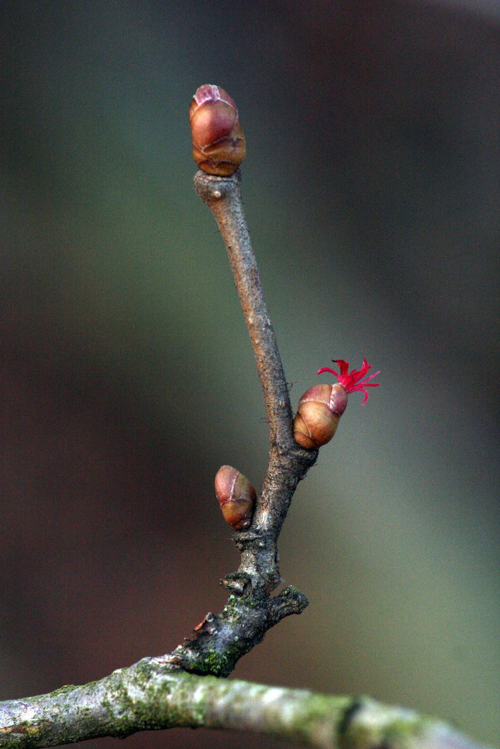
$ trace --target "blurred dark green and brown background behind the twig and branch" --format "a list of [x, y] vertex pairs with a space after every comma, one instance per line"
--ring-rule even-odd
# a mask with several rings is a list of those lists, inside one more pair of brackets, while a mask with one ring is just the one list
[[[216, 83], [293, 407], [362, 358], [299, 486], [310, 600], [234, 676], [370, 694], [500, 744], [500, 7], [1, 4], [0, 698], [189, 636], [238, 565], [213, 491], [267, 427], [187, 112]], [[372, 371], [374, 371], [372, 370]], [[109, 740], [89, 747], [109, 746]], [[278, 747], [171, 730], [132, 748]]]

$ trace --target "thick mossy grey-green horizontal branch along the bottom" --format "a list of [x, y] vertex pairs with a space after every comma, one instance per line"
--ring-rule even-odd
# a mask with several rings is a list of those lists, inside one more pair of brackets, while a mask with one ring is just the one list
[[144, 658], [99, 682], [0, 703], [0, 747], [36, 749], [142, 730], [225, 728], [317, 749], [481, 749], [447, 724], [374, 700], [195, 676]]

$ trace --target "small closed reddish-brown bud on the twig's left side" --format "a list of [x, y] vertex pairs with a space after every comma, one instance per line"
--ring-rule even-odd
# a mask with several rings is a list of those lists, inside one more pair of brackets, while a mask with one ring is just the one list
[[216, 495], [226, 523], [233, 530], [246, 530], [257, 502], [257, 493], [249, 479], [232, 466], [221, 466], [216, 475]]

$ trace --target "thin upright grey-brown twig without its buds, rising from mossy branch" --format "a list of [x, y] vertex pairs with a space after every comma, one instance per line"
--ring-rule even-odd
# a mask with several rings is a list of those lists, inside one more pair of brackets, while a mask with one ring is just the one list
[[275, 333], [241, 200], [241, 175], [197, 172], [195, 189], [210, 207], [228, 250], [243, 314], [249, 328], [269, 419], [269, 464], [249, 530], [235, 534], [240, 568], [222, 584], [231, 591], [219, 616], [208, 613], [188, 643], [171, 654], [171, 663], [194, 673], [228, 676], [237, 660], [263, 640], [266, 631], [290, 613], [301, 613], [307, 598], [293, 586], [275, 598], [281, 583], [278, 535], [293, 492], [317, 459], [317, 450], [302, 449], [293, 438], [293, 414]]

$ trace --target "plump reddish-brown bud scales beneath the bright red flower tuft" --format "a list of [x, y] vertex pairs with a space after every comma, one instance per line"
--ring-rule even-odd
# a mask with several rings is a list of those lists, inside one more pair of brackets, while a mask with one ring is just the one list
[[317, 449], [329, 442], [347, 407], [347, 391], [339, 385], [314, 385], [299, 400], [293, 436], [301, 447]]

